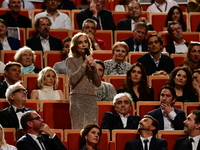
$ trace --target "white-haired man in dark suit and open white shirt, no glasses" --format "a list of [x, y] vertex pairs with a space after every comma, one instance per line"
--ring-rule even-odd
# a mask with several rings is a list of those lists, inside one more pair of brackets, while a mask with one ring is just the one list
[[130, 116], [132, 98], [129, 93], [119, 93], [113, 99], [115, 113], [106, 112], [101, 124], [102, 129], [137, 129], [140, 117]]

